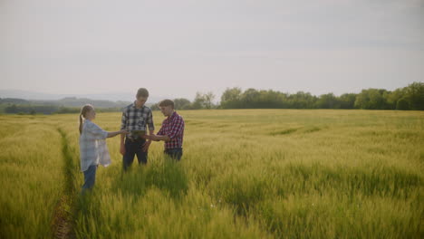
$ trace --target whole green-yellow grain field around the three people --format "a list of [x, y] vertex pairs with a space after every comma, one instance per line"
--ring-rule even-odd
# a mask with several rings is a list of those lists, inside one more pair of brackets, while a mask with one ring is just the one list
[[[112, 164], [88, 196], [78, 115], [0, 115], [0, 238], [424, 236], [424, 112], [178, 113], [180, 162], [153, 142], [148, 165], [123, 174], [120, 139], [107, 139]], [[94, 122], [118, 130], [120, 113]]]

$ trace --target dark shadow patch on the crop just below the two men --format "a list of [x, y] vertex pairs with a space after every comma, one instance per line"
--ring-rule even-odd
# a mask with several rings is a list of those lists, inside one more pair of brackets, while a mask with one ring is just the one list
[[111, 189], [122, 195], [144, 196], [151, 187], [164, 190], [175, 199], [187, 193], [188, 177], [179, 162], [159, 158], [149, 161], [146, 167], [131, 167], [112, 183]]

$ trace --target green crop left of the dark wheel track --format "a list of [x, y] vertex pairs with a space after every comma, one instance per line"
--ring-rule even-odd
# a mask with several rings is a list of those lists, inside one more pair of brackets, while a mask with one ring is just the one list
[[0, 234], [50, 237], [63, 187], [61, 136], [49, 119], [0, 116]]

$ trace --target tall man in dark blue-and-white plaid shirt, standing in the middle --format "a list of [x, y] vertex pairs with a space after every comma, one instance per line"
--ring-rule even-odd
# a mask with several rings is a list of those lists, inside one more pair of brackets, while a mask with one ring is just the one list
[[126, 137], [124, 135], [120, 137], [120, 154], [123, 156], [122, 161], [124, 170], [130, 167], [135, 155], [137, 155], [139, 164], [147, 164], [151, 140], [146, 141], [140, 134], [134, 133], [134, 130], [143, 130], [146, 132], [148, 126], [149, 134], [154, 133], [155, 126], [153, 125], [153, 115], [149, 107], [144, 105], [148, 98], [149, 91], [140, 88], [139, 91], [137, 91], [137, 100], [122, 110], [120, 129], [129, 131]]

